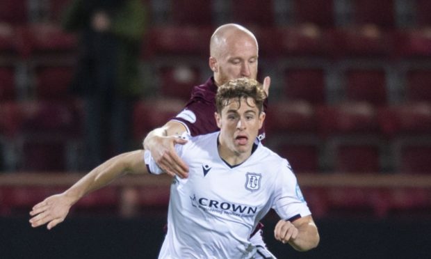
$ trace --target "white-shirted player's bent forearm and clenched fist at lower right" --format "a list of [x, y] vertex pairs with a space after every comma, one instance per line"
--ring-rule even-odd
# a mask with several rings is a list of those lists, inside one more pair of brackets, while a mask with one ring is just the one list
[[316, 224], [311, 215], [296, 219], [295, 221], [278, 221], [274, 229], [276, 240], [288, 243], [298, 251], [314, 249], [320, 237]]

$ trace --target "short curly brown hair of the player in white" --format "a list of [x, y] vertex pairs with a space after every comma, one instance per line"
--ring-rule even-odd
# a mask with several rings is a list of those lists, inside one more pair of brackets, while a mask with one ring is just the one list
[[241, 99], [244, 98], [247, 100], [247, 97], [254, 100], [259, 113], [261, 113], [266, 93], [263, 91], [263, 86], [257, 80], [242, 77], [227, 81], [226, 84], [218, 88], [215, 95], [217, 112], [221, 113], [222, 109], [229, 104], [229, 100], [232, 98], [237, 98], [238, 102], [241, 103]]

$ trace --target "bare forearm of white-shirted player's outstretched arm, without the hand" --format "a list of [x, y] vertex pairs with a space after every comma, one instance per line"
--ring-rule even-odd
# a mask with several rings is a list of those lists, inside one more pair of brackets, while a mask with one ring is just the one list
[[146, 167], [142, 155], [143, 150], [136, 150], [107, 160], [67, 189], [65, 194], [73, 198], [76, 203], [86, 194], [108, 185], [125, 173], [145, 173]]

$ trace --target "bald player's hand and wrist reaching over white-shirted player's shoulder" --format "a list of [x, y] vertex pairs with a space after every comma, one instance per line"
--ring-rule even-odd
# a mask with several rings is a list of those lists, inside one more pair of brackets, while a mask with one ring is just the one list
[[145, 150], [151, 152], [157, 165], [169, 175], [178, 175], [180, 178], [187, 178], [188, 166], [179, 158], [174, 147], [175, 144], [187, 142], [178, 137], [184, 132], [186, 132], [184, 125], [170, 120], [163, 127], [149, 132], [143, 141]]

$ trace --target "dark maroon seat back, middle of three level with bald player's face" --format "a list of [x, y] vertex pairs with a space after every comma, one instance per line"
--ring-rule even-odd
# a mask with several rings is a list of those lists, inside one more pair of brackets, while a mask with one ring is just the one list
[[376, 106], [388, 103], [387, 79], [383, 68], [348, 68], [344, 77], [345, 100], [369, 102]]

